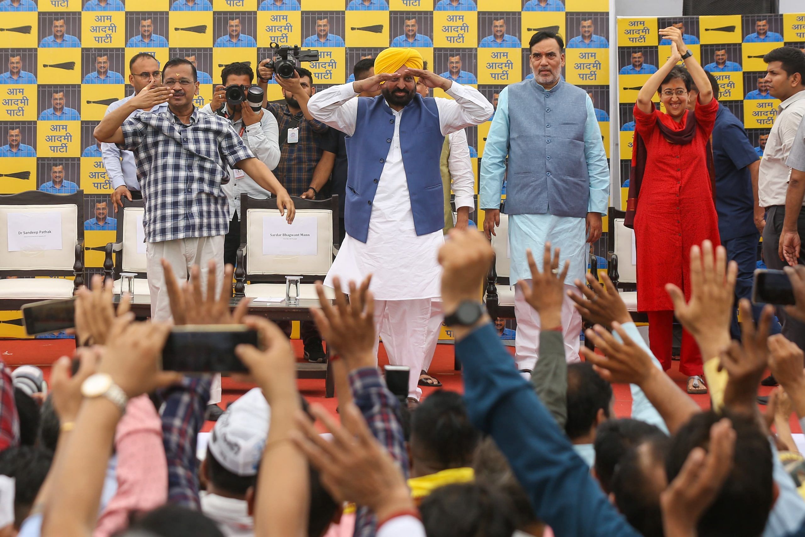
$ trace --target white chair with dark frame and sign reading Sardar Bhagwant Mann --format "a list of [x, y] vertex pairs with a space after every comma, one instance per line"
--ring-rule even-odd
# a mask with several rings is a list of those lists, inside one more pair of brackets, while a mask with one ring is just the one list
[[[294, 198], [295, 223], [303, 219], [316, 221], [316, 248], [308, 255], [264, 253], [264, 219], [279, 217], [276, 198], [254, 199], [241, 196], [241, 240], [237, 249], [235, 296], [252, 298], [284, 298], [285, 277], [301, 276], [299, 298], [317, 298], [316, 280], [324, 280], [338, 237], [338, 197], [320, 201]], [[283, 231], [285, 223], [279, 223]], [[247, 283], [248, 281], [248, 283]], [[325, 288], [328, 298], [335, 298], [333, 289]]]

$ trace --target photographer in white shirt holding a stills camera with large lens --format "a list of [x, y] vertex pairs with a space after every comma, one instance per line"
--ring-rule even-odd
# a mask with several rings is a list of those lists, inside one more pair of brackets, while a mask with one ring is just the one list
[[[213, 100], [201, 111], [229, 119], [254, 156], [268, 169], [275, 169], [280, 156], [279, 127], [275, 117], [262, 110], [263, 94], [258, 91], [260, 88], [252, 85], [253, 81], [254, 71], [248, 64], [238, 61], [227, 65], [221, 71], [223, 84], [215, 87]], [[254, 106], [258, 110], [254, 110]], [[241, 194], [266, 199], [271, 193], [240, 169], [229, 169], [229, 183], [221, 188], [229, 198], [230, 219], [229, 232], [224, 238], [224, 263], [235, 264], [237, 247], [241, 243]]]

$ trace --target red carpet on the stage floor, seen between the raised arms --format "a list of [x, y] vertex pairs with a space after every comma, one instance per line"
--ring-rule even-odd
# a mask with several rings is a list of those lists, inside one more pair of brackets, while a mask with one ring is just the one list
[[[302, 342], [294, 340], [294, 349], [297, 356], [302, 356]], [[71, 355], [75, 349], [75, 344], [72, 339], [0, 339], [0, 357], [2, 360], [12, 366], [16, 367], [23, 364], [32, 364], [42, 367], [45, 376], [50, 375], [50, 364], [60, 356]], [[509, 351], [514, 354], [514, 347], [507, 347]], [[380, 345], [379, 362], [381, 367], [388, 364], [386, 351], [382, 344]], [[687, 377], [681, 375], [678, 371], [679, 362], [673, 362], [671, 370], [668, 372], [671, 378], [679, 385], [680, 388], [686, 389]], [[433, 393], [436, 389], [449, 389], [451, 391], [462, 393], [464, 386], [461, 383], [461, 372], [453, 369], [453, 346], [449, 344], [441, 344], [436, 348], [436, 356], [433, 358], [431, 364], [431, 375], [438, 378], [443, 388], [428, 388], [423, 387], [423, 397]], [[297, 381], [299, 391], [311, 403], [319, 403], [324, 406], [332, 414], [336, 414], [336, 406], [338, 402], [336, 398], [324, 398], [324, 381], [316, 379], [306, 379]], [[253, 385], [237, 383], [229, 378], [223, 380], [224, 393], [222, 396], [221, 406], [225, 407], [227, 403], [239, 398], [246, 390], [254, 387]], [[771, 388], [761, 386], [760, 395], [767, 395], [770, 393]], [[628, 385], [613, 385], [613, 393], [615, 396], [615, 414], [618, 417], [629, 416], [632, 408], [632, 397]], [[707, 395], [691, 395], [696, 403], [702, 408], [710, 407], [710, 399]], [[761, 411], [765, 411], [765, 407], [761, 407]], [[205, 430], [211, 428], [211, 423], [207, 424]], [[795, 433], [802, 432], [799, 427], [795, 415], [791, 417], [791, 431]]]

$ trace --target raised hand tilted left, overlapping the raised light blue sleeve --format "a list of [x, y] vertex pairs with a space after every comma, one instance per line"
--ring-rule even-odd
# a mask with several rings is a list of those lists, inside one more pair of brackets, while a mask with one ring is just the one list
[[651, 356], [626, 334], [620, 323], [613, 323], [613, 330], [621, 336], [618, 343], [604, 327], [596, 325], [584, 334], [604, 356], [586, 347], [580, 348], [584, 360], [590, 362], [601, 378], [608, 382], [628, 382], [642, 386], [654, 373], [662, 373], [651, 363]]

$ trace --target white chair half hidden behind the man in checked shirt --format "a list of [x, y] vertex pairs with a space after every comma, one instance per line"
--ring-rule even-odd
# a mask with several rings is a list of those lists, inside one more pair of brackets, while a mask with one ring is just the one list
[[[106, 244], [103, 263], [105, 278], [114, 281], [114, 293], [120, 293], [121, 273], [135, 273], [134, 294], [150, 297], [148, 287], [147, 256], [145, 235], [142, 232], [142, 214], [145, 213], [142, 200], [124, 200], [123, 208], [118, 210], [118, 242]], [[117, 252], [114, 263], [112, 252]]]

